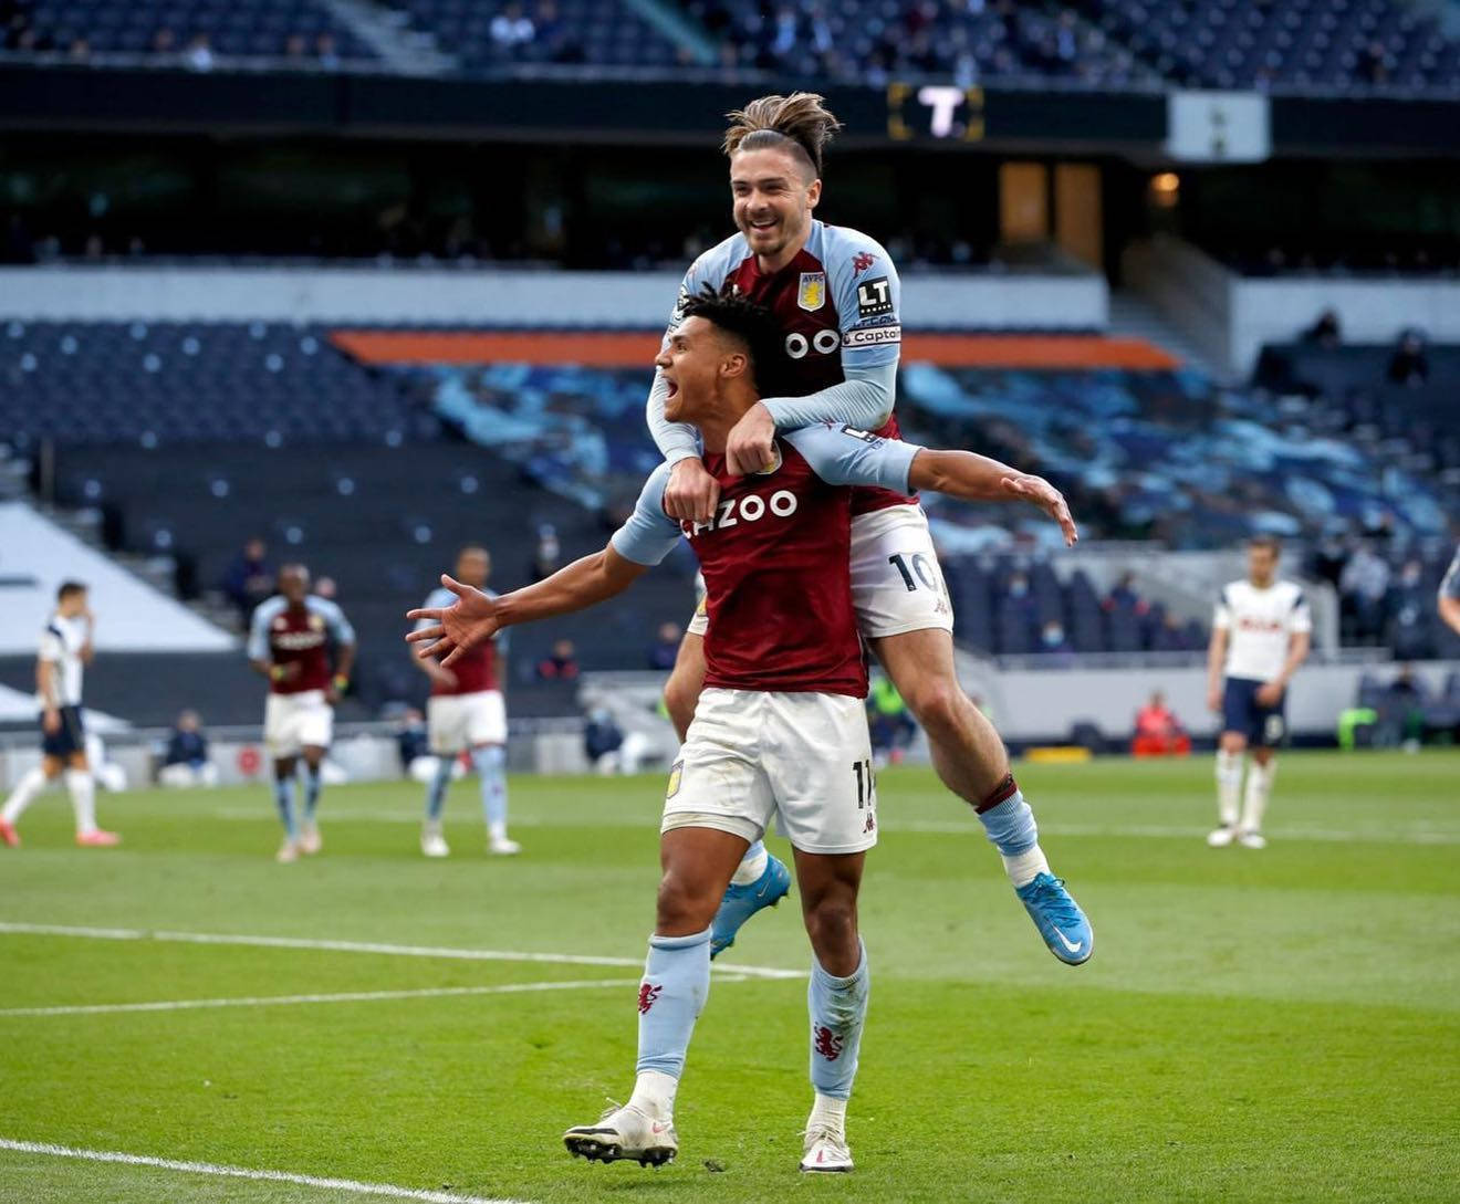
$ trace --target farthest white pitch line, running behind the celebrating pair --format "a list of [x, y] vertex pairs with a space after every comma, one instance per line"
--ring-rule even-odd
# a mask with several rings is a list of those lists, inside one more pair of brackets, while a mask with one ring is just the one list
[[[257, 809], [245, 810], [242, 807], [220, 807], [213, 813], [215, 819], [222, 820], [258, 820], [264, 819], [269, 822], [277, 822], [273, 813], [263, 813]], [[400, 823], [400, 825], [419, 825], [420, 816], [410, 814], [396, 814], [393, 811], [365, 811], [365, 810], [339, 810], [330, 811], [331, 819], [346, 820], [346, 822], [366, 822], [366, 823]], [[537, 819], [533, 816], [517, 816], [512, 823], [518, 827], [574, 827], [581, 823], [587, 823], [591, 827], [642, 827], [650, 820], [638, 819], [613, 819], [613, 817], [594, 817], [593, 820], [578, 820], [578, 819]], [[896, 820], [896, 819], [880, 819], [877, 820], [880, 830], [886, 833], [895, 832], [912, 832], [918, 835], [936, 835], [936, 836], [981, 836], [981, 830], [977, 822], [969, 817], [968, 822], [959, 823], [956, 820]], [[1130, 836], [1130, 838], [1152, 838], [1152, 839], [1187, 839], [1191, 836], [1206, 836], [1210, 830], [1209, 827], [1200, 827], [1197, 825], [1158, 825], [1158, 823], [1136, 823], [1136, 825], [1105, 825], [1105, 823], [1040, 823], [1040, 830], [1050, 836]], [[1380, 844], [1380, 845], [1460, 845], [1460, 832], [1445, 830], [1445, 829], [1424, 829], [1424, 827], [1409, 827], [1409, 829], [1394, 829], [1394, 830], [1355, 830], [1355, 829], [1324, 829], [1324, 827], [1278, 827], [1267, 829], [1267, 835], [1279, 841], [1318, 841], [1323, 844]]]

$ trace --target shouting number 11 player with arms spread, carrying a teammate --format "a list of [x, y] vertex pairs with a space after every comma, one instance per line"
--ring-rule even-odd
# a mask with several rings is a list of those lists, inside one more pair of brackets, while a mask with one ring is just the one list
[[[851, 489], [936, 489], [980, 501], [1028, 501], [1073, 543], [1064, 499], [1040, 477], [962, 451], [927, 451], [841, 426], [787, 432], [759, 471], [729, 471], [734, 425], [775, 387], [784, 333], [743, 298], [691, 298], [656, 360], [666, 412], [704, 438], [720, 486], [708, 522], [666, 512], [670, 467], [648, 479], [631, 518], [602, 552], [499, 598], [450, 578], [458, 601], [409, 616], [407, 639], [442, 664], [501, 628], [583, 610], [626, 590], [688, 537], [705, 576], [705, 689], [669, 778], [663, 877], [638, 992], [634, 1095], [597, 1124], [571, 1128], [574, 1154], [660, 1165], [679, 1149], [673, 1106], [695, 1019], [710, 989], [711, 921], [748, 848], [774, 819], [790, 838], [812, 944], [810, 1076], [815, 1102], [803, 1170], [850, 1170], [845, 1109], [857, 1073], [869, 969], [857, 927], [866, 851], [876, 844], [876, 784], [863, 699], [866, 664], [853, 607]], [[807, 622], [810, 619], [810, 622]], [[1018, 791], [986, 814], [1009, 857], [1035, 846]], [[1061, 916], [1072, 944], [1083, 916]]]

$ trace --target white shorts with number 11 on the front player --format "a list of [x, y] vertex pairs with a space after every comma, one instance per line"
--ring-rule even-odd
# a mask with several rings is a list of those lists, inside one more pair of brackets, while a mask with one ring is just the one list
[[777, 832], [803, 852], [877, 842], [867, 712], [860, 698], [710, 687], [669, 775], [661, 832]]

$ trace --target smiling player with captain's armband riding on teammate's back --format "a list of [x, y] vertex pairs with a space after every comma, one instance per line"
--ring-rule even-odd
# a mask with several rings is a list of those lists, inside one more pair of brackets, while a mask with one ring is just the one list
[[[784, 393], [758, 401], [730, 432], [727, 476], [769, 463], [778, 431], [832, 422], [898, 438], [896, 269], [864, 234], [813, 216], [822, 197], [822, 150], [840, 123], [821, 96], [806, 92], [762, 96], [730, 120], [724, 150], [739, 232], [691, 266], [669, 328], [679, 324], [688, 298], [707, 285], [717, 292], [729, 286], [775, 314], [790, 365]], [[696, 432], [666, 414], [666, 400], [667, 382], [658, 375], [648, 423], [672, 468], [664, 509], [672, 518], [710, 521], [724, 505], [723, 482], [701, 461]], [[943, 785], [991, 835], [990, 813], [1016, 787], [999, 733], [958, 684], [953, 611], [927, 515], [914, 493], [877, 486], [853, 492], [851, 515], [857, 629], [927, 733]], [[696, 614], [664, 692], [680, 740], [705, 682], [704, 635], [705, 616]], [[1042, 849], [1032, 845], [1004, 857], [1004, 870], [1050, 952], [1069, 965], [1086, 960], [1089, 947], [1069, 944], [1051, 919], [1076, 905]], [[742, 924], [788, 889], [785, 867], [764, 845], [752, 845], [715, 916], [712, 953], [727, 949]]]

